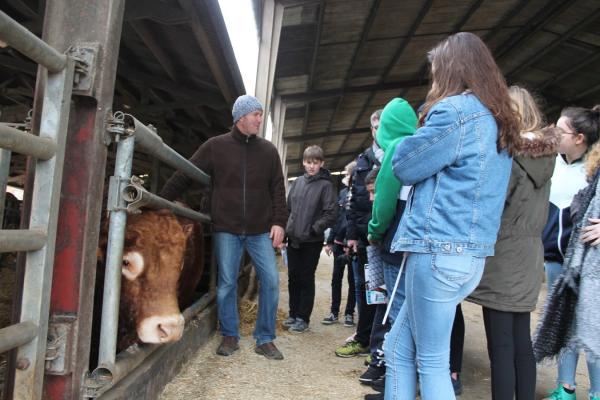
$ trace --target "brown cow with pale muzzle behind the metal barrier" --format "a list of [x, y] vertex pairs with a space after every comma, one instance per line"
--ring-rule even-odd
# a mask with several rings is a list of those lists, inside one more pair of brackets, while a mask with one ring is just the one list
[[[169, 210], [129, 215], [123, 249], [118, 349], [137, 340], [179, 340], [180, 309], [191, 304], [204, 269], [202, 225]], [[102, 235], [101, 243], [106, 243]]]

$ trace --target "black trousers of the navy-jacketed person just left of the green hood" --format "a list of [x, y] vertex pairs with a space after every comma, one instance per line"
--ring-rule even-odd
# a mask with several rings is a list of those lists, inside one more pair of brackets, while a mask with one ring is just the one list
[[373, 328], [373, 318], [375, 317], [375, 304], [367, 304], [367, 295], [365, 291], [365, 264], [367, 263], [366, 247], [358, 248], [358, 260], [356, 262], [356, 270], [354, 282], [356, 284], [356, 305], [358, 306], [358, 323], [356, 324], [357, 342], [363, 346], [369, 346], [371, 329]]

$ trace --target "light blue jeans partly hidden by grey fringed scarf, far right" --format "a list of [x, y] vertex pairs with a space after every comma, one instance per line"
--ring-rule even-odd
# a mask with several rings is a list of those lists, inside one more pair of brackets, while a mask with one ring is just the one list
[[[548, 283], [548, 292], [562, 273], [562, 264], [556, 261], [546, 261], [546, 280]], [[579, 351], [567, 348], [558, 357], [557, 385], [567, 384], [575, 387], [575, 372], [577, 370], [577, 361], [579, 361]], [[600, 362], [593, 360], [587, 361], [588, 375], [590, 377], [590, 394], [600, 396]]]

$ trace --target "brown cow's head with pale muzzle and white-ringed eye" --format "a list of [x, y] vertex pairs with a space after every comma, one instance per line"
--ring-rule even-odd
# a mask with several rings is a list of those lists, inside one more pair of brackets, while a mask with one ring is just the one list
[[168, 210], [128, 217], [120, 313], [135, 323], [137, 336], [144, 343], [181, 338], [184, 319], [177, 287], [191, 231], [192, 225], [183, 226]]

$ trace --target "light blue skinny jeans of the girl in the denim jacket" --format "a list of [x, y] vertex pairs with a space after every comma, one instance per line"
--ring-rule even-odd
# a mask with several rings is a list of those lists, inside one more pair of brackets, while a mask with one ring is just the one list
[[450, 381], [450, 332], [456, 306], [481, 280], [485, 258], [408, 253], [406, 299], [383, 349], [385, 399], [455, 399]]

